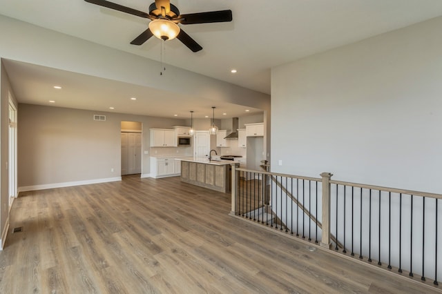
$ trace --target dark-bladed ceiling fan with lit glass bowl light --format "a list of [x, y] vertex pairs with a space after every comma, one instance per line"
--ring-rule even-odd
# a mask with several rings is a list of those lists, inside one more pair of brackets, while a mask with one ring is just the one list
[[136, 37], [131, 44], [142, 45], [150, 37], [155, 35], [159, 39], [171, 40], [175, 37], [179, 39], [184, 45], [186, 45], [193, 52], [198, 52], [202, 49], [194, 39], [182, 30], [177, 23], [183, 25], [193, 23], [219, 23], [232, 20], [231, 10], [219, 10], [210, 12], [198, 12], [191, 14], [180, 14], [180, 10], [170, 0], [155, 0], [149, 6], [149, 13], [142, 12], [133, 8], [119, 5], [117, 3], [109, 2], [106, 0], [84, 0], [89, 3], [97, 4], [113, 10], [126, 12], [128, 14], [136, 15], [137, 17], [143, 17], [145, 19], [151, 19], [148, 24], [148, 29]]

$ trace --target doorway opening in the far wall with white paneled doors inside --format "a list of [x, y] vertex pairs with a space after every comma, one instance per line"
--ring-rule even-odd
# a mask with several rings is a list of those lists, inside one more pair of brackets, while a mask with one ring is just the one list
[[121, 175], [142, 173], [142, 123], [139, 121], [121, 122]]

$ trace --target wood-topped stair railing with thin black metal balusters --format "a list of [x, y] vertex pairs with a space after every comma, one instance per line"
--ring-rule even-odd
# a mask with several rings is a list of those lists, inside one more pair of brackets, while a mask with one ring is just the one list
[[231, 215], [439, 286], [442, 195], [238, 167]]

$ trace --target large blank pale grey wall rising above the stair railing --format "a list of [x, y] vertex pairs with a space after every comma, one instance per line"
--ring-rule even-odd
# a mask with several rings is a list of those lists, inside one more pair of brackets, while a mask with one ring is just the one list
[[439, 17], [273, 68], [271, 170], [442, 193], [441, 31]]

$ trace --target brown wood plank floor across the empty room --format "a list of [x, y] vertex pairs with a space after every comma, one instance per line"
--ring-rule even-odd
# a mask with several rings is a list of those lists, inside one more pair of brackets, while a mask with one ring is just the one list
[[21, 193], [0, 293], [440, 293], [229, 212], [179, 177]]

